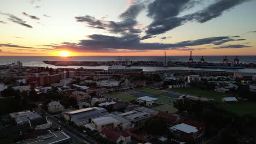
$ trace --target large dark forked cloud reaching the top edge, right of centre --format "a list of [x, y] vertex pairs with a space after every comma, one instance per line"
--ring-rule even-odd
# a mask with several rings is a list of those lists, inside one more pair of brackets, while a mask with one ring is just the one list
[[188, 21], [200, 23], [209, 21], [221, 16], [226, 10], [247, 1], [250, 0], [218, 0], [193, 14], [178, 17], [188, 7], [191, 0], [155, 0], [148, 5], [148, 16], [153, 18], [153, 22], [147, 26], [146, 35], [142, 39], [148, 39], [152, 35], [165, 33], [173, 28], [184, 25]]

